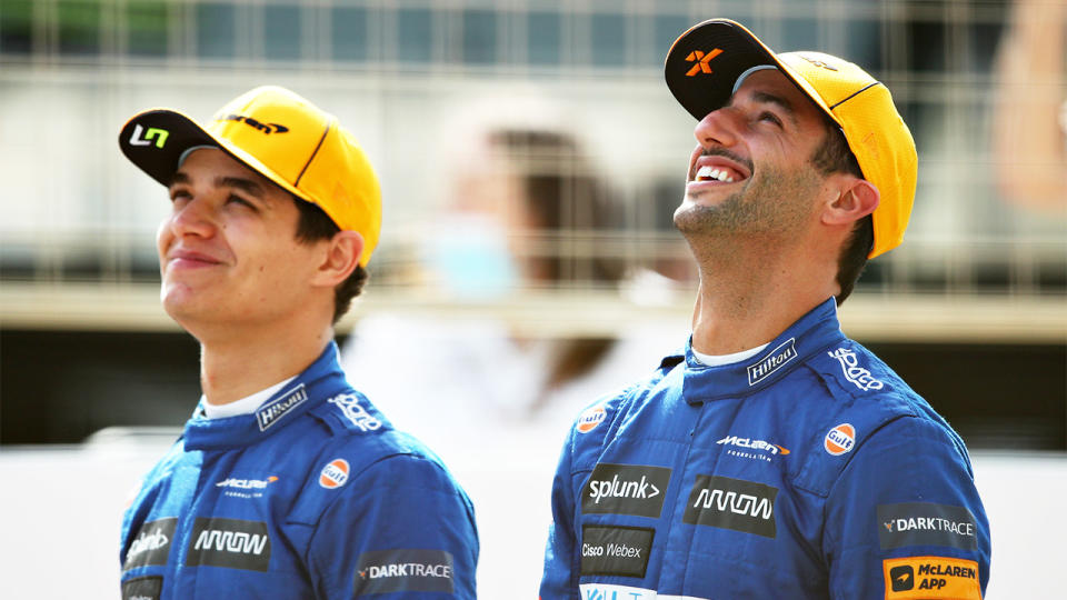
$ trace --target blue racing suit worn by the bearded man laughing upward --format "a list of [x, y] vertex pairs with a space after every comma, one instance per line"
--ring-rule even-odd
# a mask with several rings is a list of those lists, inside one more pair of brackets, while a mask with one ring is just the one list
[[977, 599], [989, 579], [963, 440], [834, 299], [748, 361], [687, 348], [589, 407], [552, 517], [541, 600]]

